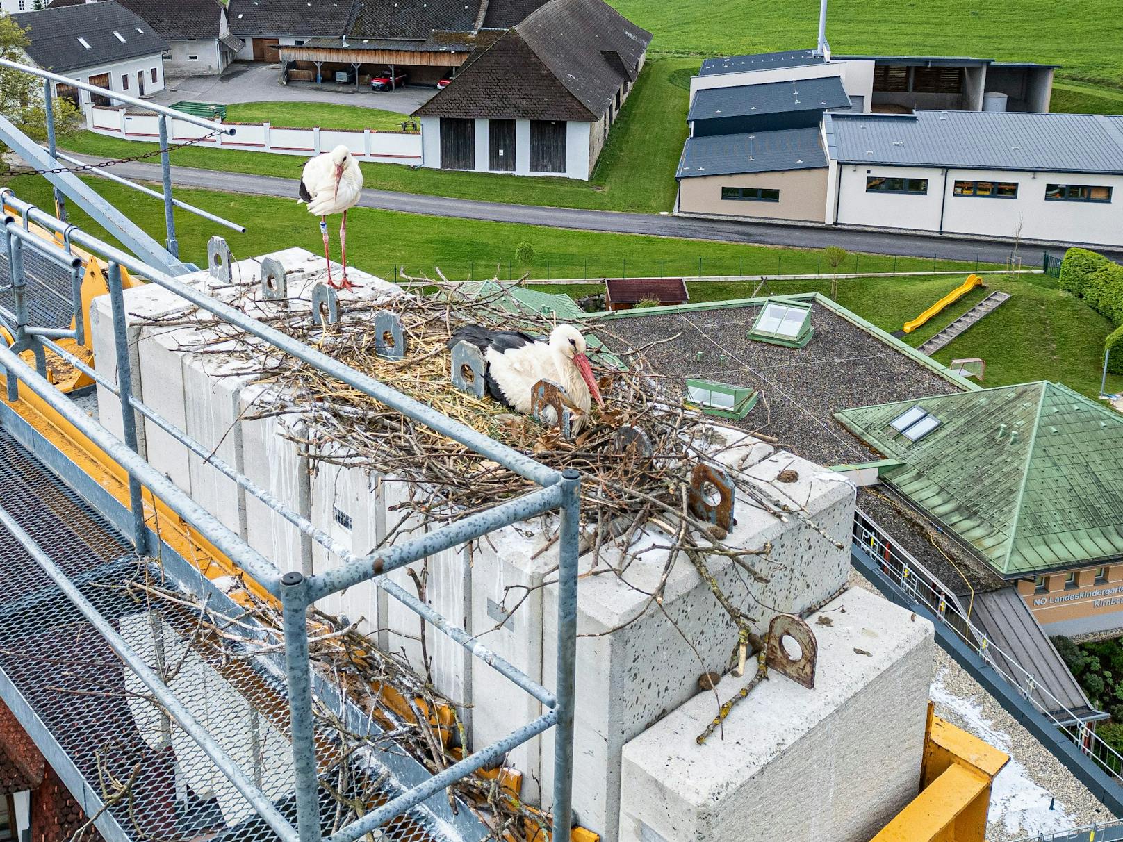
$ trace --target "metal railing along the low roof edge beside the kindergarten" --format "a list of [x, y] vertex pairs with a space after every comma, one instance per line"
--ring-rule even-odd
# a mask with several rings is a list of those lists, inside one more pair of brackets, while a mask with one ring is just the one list
[[1096, 766], [1116, 782], [1123, 782], [1123, 754], [1104, 742], [1086, 721], [1039, 684], [1012, 655], [988, 640], [986, 632], [971, 623], [958, 603], [950, 598], [948, 591], [861, 510], [855, 512], [851, 540], [853, 550], [862, 553], [886, 579], [953, 631], [990, 668], [1016, 687], [1038, 713], [1063, 731]]

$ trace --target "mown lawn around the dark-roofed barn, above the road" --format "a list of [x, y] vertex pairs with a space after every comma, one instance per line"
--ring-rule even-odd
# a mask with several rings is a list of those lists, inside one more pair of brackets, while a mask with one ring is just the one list
[[[381, 190], [492, 202], [651, 213], [669, 211], [675, 201], [675, 167], [686, 138], [687, 94], [681, 77], [682, 72], [686, 72], [688, 79], [691, 68], [696, 64], [693, 60], [681, 58], [651, 60], [647, 63], [609, 135], [609, 143], [601, 153], [593, 177], [587, 182], [551, 177], [524, 179], [496, 173], [412, 170], [401, 164], [363, 164], [364, 181], [366, 186]], [[678, 76], [673, 76], [676, 71], [679, 71]], [[364, 112], [371, 110], [350, 106], [271, 102], [231, 106], [228, 117], [231, 120], [248, 121], [241, 109], [262, 107], [263, 110], [254, 117], [255, 121], [261, 120], [266, 116], [266, 106], [271, 109], [274, 106], [309, 109], [304, 117], [307, 125], [317, 122], [317, 115], [321, 109], [343, 109], [353, 115], [351, 119], [360, 122], [364, 120]], [[271, 119], [280, 122], [280, 118]], [[400, 116], [398, 120], [401, 121]], [[328, 118], [325, 117], [319, 122], [326, 125]], [[336, 126], [338, 121], [335, 119], [331, 122], [334, 128], [346, 128]], [[67, 137], [61, 145], [71, 152], [103, 157], [128, 157], [158, 148], [156, 144], [121, 140], [89, 131]], [[179, 166], [289, 179], [300, 177], [303, 166], [303, 158], [290, 155], [194, 146], [176, 149], [171, 157], [172, 163]]]

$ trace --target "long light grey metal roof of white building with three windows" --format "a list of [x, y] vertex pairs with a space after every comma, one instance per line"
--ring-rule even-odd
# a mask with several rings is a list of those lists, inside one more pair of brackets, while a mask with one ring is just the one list
[[848, 164], [1123, 174], [1123, 117], [992, 111], [824, 115]]

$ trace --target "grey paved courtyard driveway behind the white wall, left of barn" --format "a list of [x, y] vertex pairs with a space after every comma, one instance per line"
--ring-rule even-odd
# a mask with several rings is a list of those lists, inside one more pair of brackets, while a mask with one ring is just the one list
[[408, 115], [437, 93], [435, 88], [407, 86], [394, 92], [375, 92], [355, 85], [312, 83], [283, 85], [277, 79], [281, 65], [236, 62], [221, 76], [183, 76], [168, 79], [167, 88], [152, 99], [164, 106], [180, 100], [216, 102], [229, 106], [238, 102], [335, 102], [343, 106], [381, 108]]

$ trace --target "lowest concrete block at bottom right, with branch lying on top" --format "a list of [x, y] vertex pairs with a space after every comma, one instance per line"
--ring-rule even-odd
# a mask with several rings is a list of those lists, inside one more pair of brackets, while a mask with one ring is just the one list
[[807, 623], [814, 689], [773, 674], [699, 745], [716, 712], [701, 693], [624, 747], [620, 842], [865, 842], [916, 796], [932, 624], [860, 588]]

